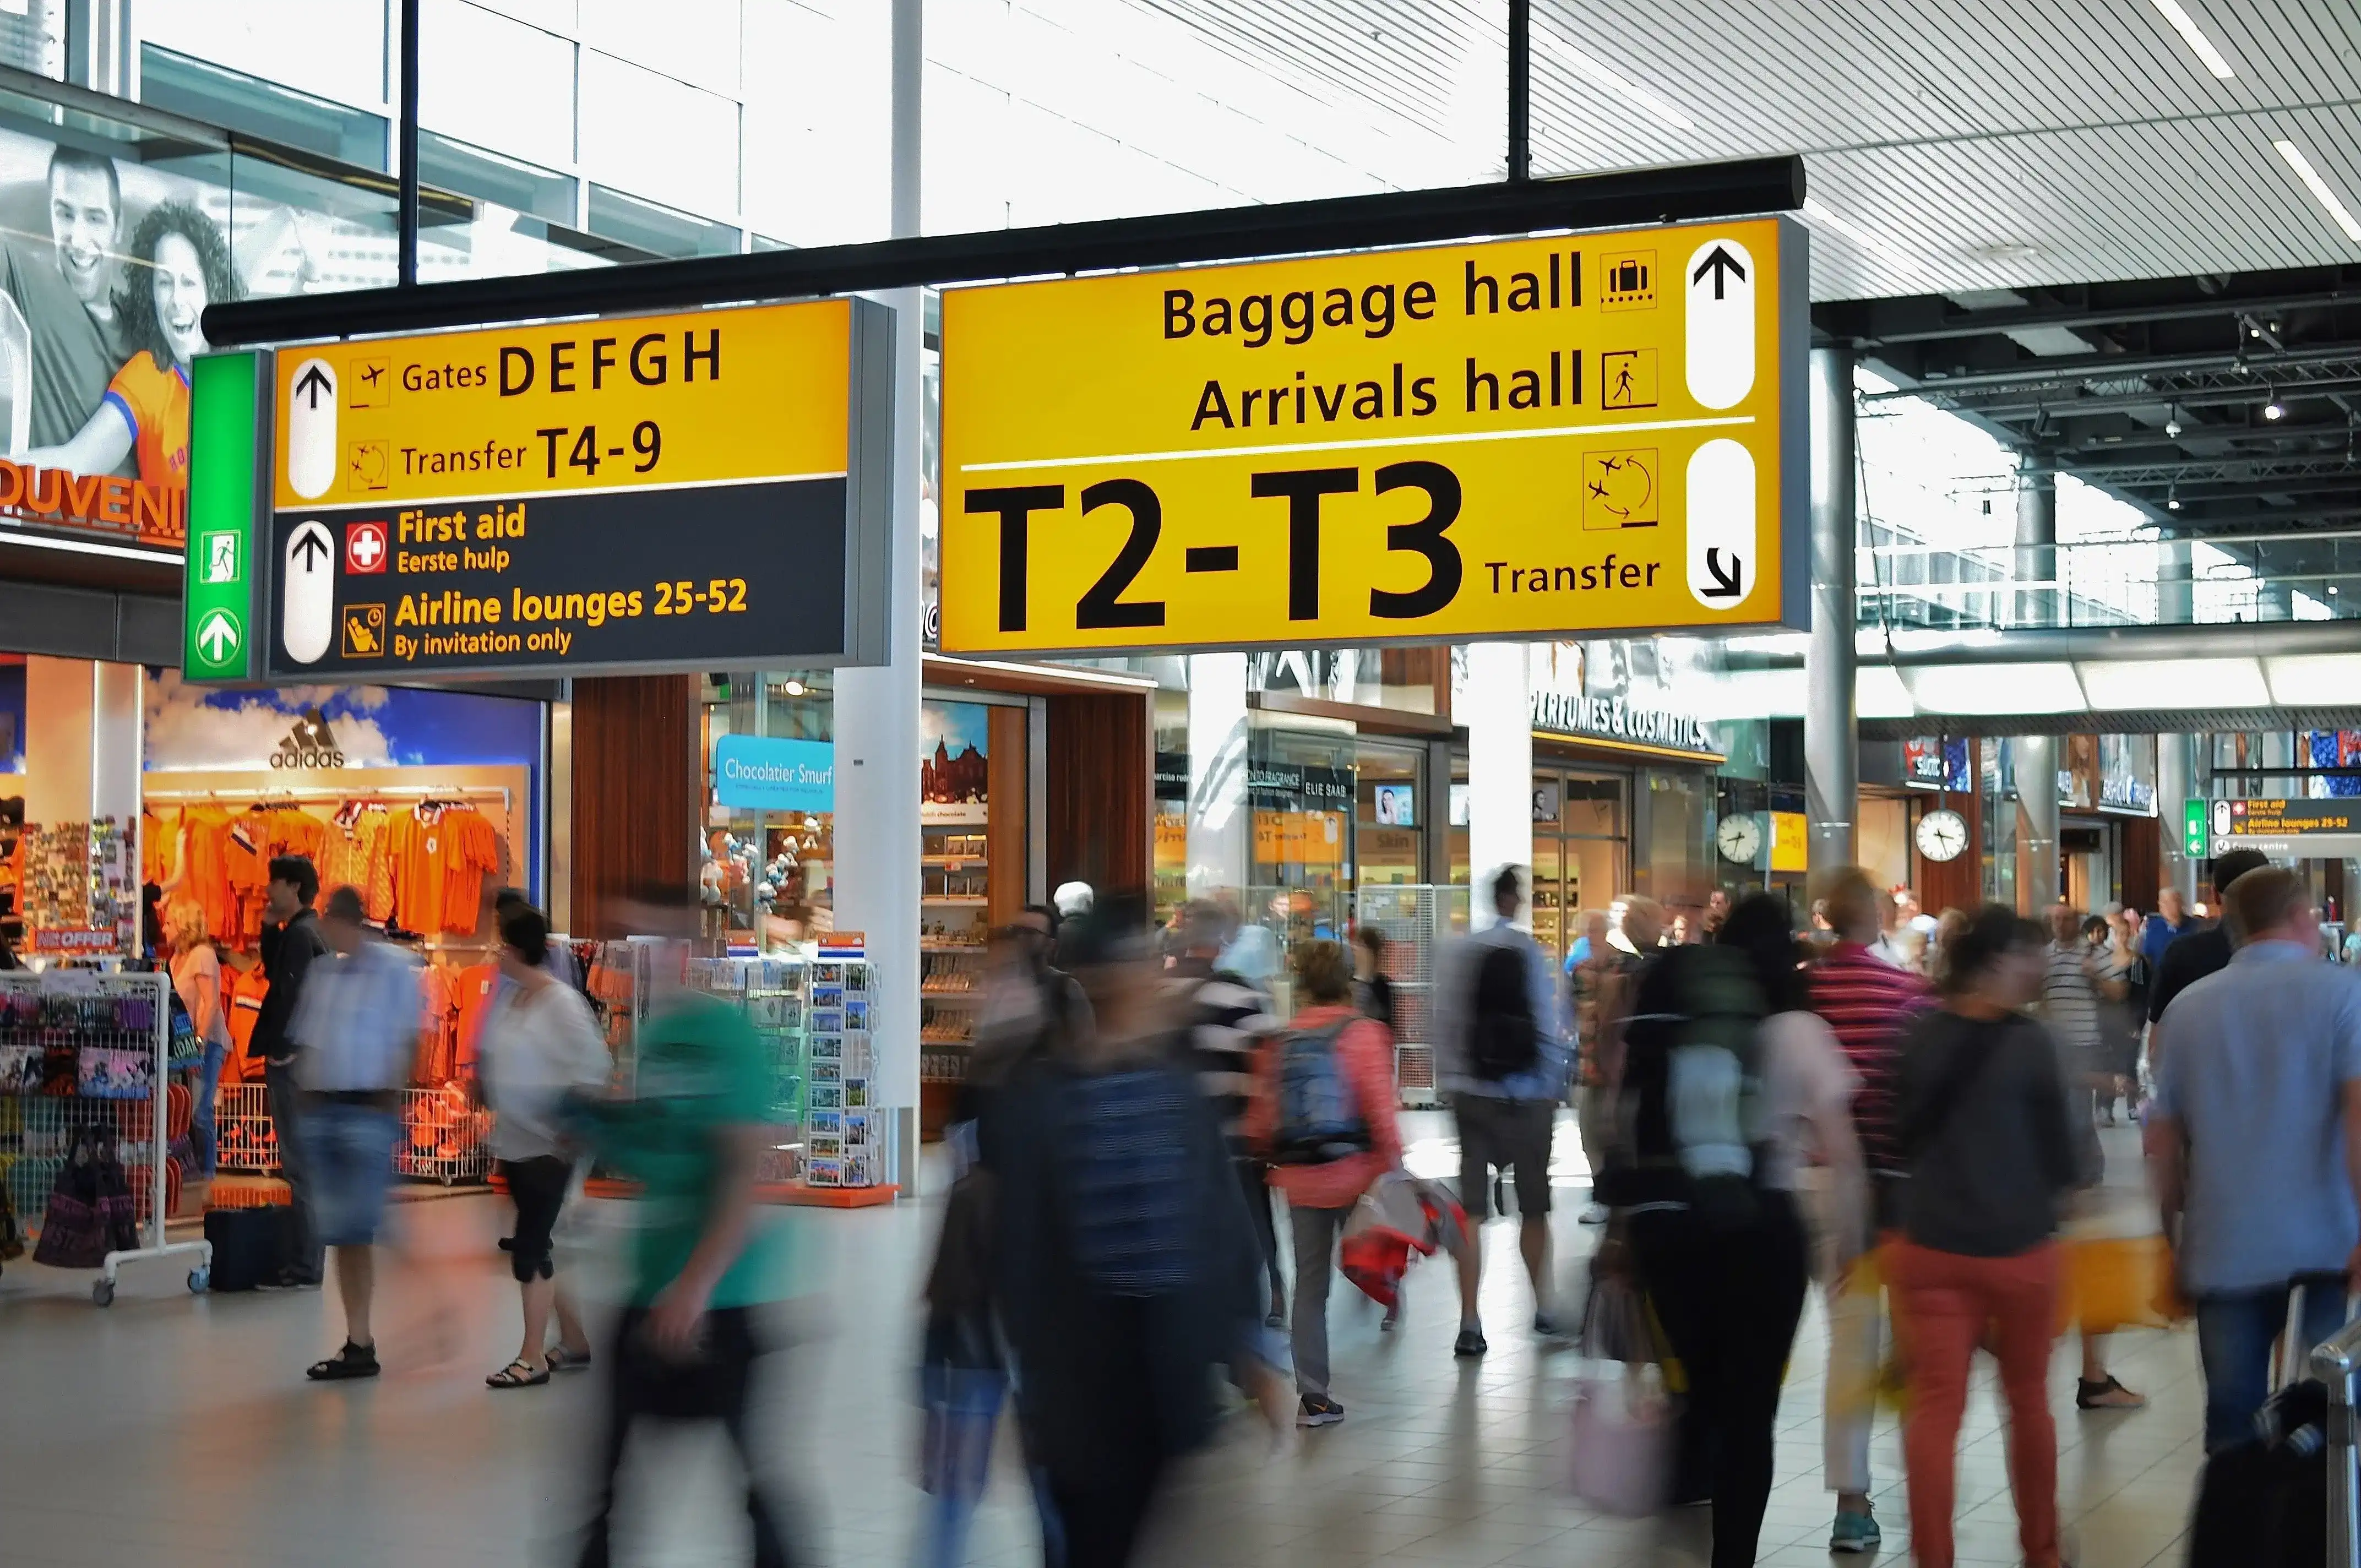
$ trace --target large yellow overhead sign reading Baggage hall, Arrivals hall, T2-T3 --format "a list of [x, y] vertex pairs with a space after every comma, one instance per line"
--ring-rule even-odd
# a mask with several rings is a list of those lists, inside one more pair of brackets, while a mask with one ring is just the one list
[[942, 298], [942, 647], [1801, 626], [1804, 229]]

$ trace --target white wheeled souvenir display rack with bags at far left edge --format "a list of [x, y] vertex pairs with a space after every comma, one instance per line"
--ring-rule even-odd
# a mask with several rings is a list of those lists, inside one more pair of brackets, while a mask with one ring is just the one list
[[97, 1266], [90, 1299], [109, 1306], [123, 1263], [187, 1256], [189, 1289], [212, 1280], [212, 1247], [165, 1240], [172, 1159], [170, 978], [97, 971], [0, 973], [0, 1155], [9, 1197], [38, 1233], [80, 1129], [113, 1136], [130, 1185], [132, 1247]]

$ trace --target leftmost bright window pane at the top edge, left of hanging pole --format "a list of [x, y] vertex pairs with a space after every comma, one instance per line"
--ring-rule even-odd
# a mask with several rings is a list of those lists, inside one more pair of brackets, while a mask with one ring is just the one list
[[[24, 7], [9, 7], [24, 9]], [[66, 9], [66, 7], [57, 7]], [[208, 59], [243, 80], [283, 83], [297, 94], [340, 99], [345, 104], [385, 104], [392, 99], [387, 71], [387, 0], [205, 0], [187, 5], [123, 7], [137, 9], [139, 99], [158, 109], [194, 113], [168, 104], [149, 90], [149, 64], [158, 54], [172, 61]], [[220, 116], [196, 116], [215, 125], [234, 125], [253, 135], [272, 135], [257, 125], [238, 125]], [[290, 142], [293, 137], [274, 137]], [[309, 144], [302, 144], [309, 146]], [[314, 146], [312, 151], [328, 151]], [[380, 149], [382, 156], [382, 149]], [[354, 158], [385, 168], [371, 158]]]

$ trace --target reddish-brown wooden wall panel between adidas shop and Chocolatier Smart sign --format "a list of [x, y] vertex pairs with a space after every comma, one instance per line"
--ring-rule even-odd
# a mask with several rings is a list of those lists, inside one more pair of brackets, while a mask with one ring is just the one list
[[701, 775], [694, 675], [574, 682], [574, 935], [630, 935], [635, 888], [696, 888]]

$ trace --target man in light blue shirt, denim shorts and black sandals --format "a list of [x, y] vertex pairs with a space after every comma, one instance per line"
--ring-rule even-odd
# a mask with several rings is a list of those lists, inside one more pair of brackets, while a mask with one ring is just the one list
[[[309, 864], [305, 864], [309, 874]], [[274, 864], [276, 881], [276, 864]], [[319, 935], [328, 956], [309, 966], [290, 1037], [297, 1046], [297, 1136], [312, 1181], [312, 1221], [335, 1247], [335, 1287], [345, 1304], [345, 1348], [314, 1363], [314, 1381], [378, 1374], [378, 1339], [368, 1318], [378, 1287], [378, 1228], [394, 1183], [401, 1136], [401, 1086], [418, 1048], [418, 963], [361, 923], [361, 895], [328, 895]]]

